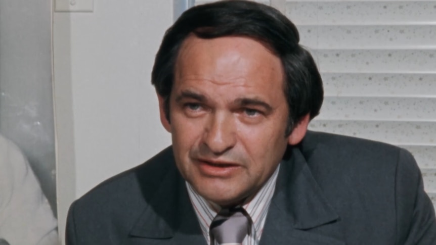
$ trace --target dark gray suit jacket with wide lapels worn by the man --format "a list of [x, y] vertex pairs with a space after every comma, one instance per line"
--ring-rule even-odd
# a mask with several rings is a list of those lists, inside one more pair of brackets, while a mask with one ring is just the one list
[[[407, 151], [308, 132], [285, 160], [260, 245], [436, 244], [433, 206]], [[206, 244], [170, 148], [74, 202], [66, 241]]]

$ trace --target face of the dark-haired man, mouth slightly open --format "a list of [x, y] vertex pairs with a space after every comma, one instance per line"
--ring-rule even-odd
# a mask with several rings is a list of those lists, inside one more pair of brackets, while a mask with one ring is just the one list
[[[246, 37], [188, 37], [169, 97], [177, 167], [205, 199], [235, 205], [255, 194], [277, 168], [292, 134], [283, 68]], [[304, 131], [305, 132], [305, 131]]]

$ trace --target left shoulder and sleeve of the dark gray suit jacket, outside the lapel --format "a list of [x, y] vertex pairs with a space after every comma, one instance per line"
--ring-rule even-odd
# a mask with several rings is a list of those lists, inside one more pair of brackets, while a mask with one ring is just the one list
[[71, 244], [101, 244], [109, 238], [100, 237], [102, 234], [125, 237], [161, 180], [173, 170], [177, 168], [168, 147], [145, 163], [100, 183], [70, 206], [67, 239], [76, 240]]

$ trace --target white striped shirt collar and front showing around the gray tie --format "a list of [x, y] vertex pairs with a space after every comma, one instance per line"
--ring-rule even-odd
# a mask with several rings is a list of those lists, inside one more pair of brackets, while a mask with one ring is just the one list
[[[254, 198], [242, 206], [247, 211], [252, 221], [251, 233], [245, 237], [244, 241], [242, 242], [243, 245], [259, 244], [260, 236], [264, 230], [268, 208], [270, 207], [271, 199], [276, 187], [279, 168], [280, 165], [264, 184], [264, 186], [256, 193]], [[209, 226], [221, 208], [216, 204], [206, 201], [194, 190], [194, 188], [192, 188], [188, 182], [186, 182], [186, 186], [188, 187], [189, 198], [191, 199], [191, 203], [194, 207], [195, 213], [197, 214], [203, 235], [206, 238], [207, 244], [210, 245]], [[215, 244], [212, 245], [218, 245], [218, 243], [215, 241]]]

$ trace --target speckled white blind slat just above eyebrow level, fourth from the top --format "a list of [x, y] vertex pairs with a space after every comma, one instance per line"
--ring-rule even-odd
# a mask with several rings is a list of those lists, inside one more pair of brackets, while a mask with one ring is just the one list
[[436, 71], [432, 74], [323, 73], [327, 96], [431, 96], [436, 95]]

